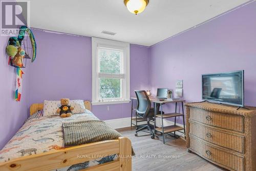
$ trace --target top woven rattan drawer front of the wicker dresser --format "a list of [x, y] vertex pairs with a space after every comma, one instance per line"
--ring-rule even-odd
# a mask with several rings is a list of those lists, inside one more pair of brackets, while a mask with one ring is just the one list
[[190, 107], [189, 119], [219, 128], [244, 132], [244, 117], [240, 115], [230, 115]]

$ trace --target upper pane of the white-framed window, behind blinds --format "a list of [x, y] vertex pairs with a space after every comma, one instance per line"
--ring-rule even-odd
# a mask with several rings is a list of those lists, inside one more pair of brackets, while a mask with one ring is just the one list
[[99, 72], [121, 73], [122, 56], [122, 50], [98, 48]]

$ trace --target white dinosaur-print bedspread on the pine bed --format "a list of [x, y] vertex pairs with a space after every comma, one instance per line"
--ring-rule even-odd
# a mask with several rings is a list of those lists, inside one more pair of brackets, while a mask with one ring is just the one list
[[[64, 148], [62, 123], [79, 120], [99, 119], [89, 110], [86, 113], [75, 114], [69, 118], [51, 116], [29, 119], [0, 151], [0, 162]], [[54, 169], [54, 171], [79, 170], [113, 160], [115, 160], [115, 156], [109, 156], [61, 169]]]

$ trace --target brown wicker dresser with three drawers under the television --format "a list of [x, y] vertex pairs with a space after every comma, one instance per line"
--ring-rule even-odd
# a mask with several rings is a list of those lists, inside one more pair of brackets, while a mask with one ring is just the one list
[[185, 106], [188, 151], [229, 170], [256, 170], [256, 107]]

